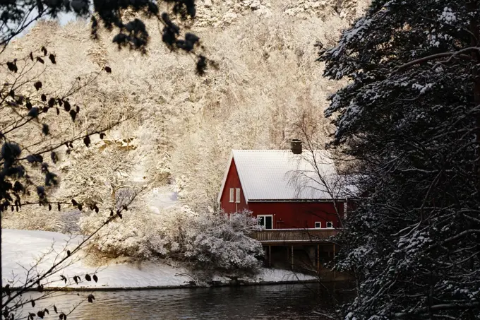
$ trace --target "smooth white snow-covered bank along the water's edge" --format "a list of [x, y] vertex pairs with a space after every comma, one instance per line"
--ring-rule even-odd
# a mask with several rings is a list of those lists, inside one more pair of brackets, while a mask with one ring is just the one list
[[[71, 238], [57, 232], [2, 230], [1, 237], [1, 267], [2, 286], [13, 282], [13, 286], [22, 285], [26, 273], [32, 269], [34, 272], [47, 270], [52, 263], [59, 261], [64, 256], [64, 248], [75, 247], [81, 241], [80, 237]], [[58, 254], [59, 253], [59, 254]], [[37, 263], [37, 261], [39, 261]], [[71, 288], [146, 288], [146, 287], [177, 287], [187, 285], [192, 279], [182, 268], [172, 268], [163, 263], [119, 263], [100, 268], [90, 267], [88, 259], [71, 261], [69, 265], [56, 275], [47, 280], [45, 287], [64, 286], [60, 275], [71, 279], [73, 275], [96, 273], [98, 282], [72, 283]], [[36, 266], [35, 266], [36, 265]], [[32, 268], [33, 266], [33, 268]], [[32, 271], [30, 271], [31, 273]], [[228, 282], [228, 278], [215, 277], [214, 280]], [[247, 279], [248, 282], [284, 282], [298, 280], [314, 280], [309, 275], [293, 274], [291, 271], [264, 268], [256, 278]]]

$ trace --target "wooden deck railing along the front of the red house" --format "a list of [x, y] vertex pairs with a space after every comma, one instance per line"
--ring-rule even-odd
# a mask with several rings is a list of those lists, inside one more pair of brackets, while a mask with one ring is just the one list
[[253, 232], [251, 237], [260, 242], [325, 242], [338, 232], [336, 229], [272, 229]]

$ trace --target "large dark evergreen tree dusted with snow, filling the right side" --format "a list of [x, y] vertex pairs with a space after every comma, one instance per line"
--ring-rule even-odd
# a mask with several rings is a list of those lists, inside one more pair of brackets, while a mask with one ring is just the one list
[[326, 115], [362, 196], [347, 319], [480, 319], [479, 24], [475, 0], [376, 0], [320, 52], [350, 81]]

